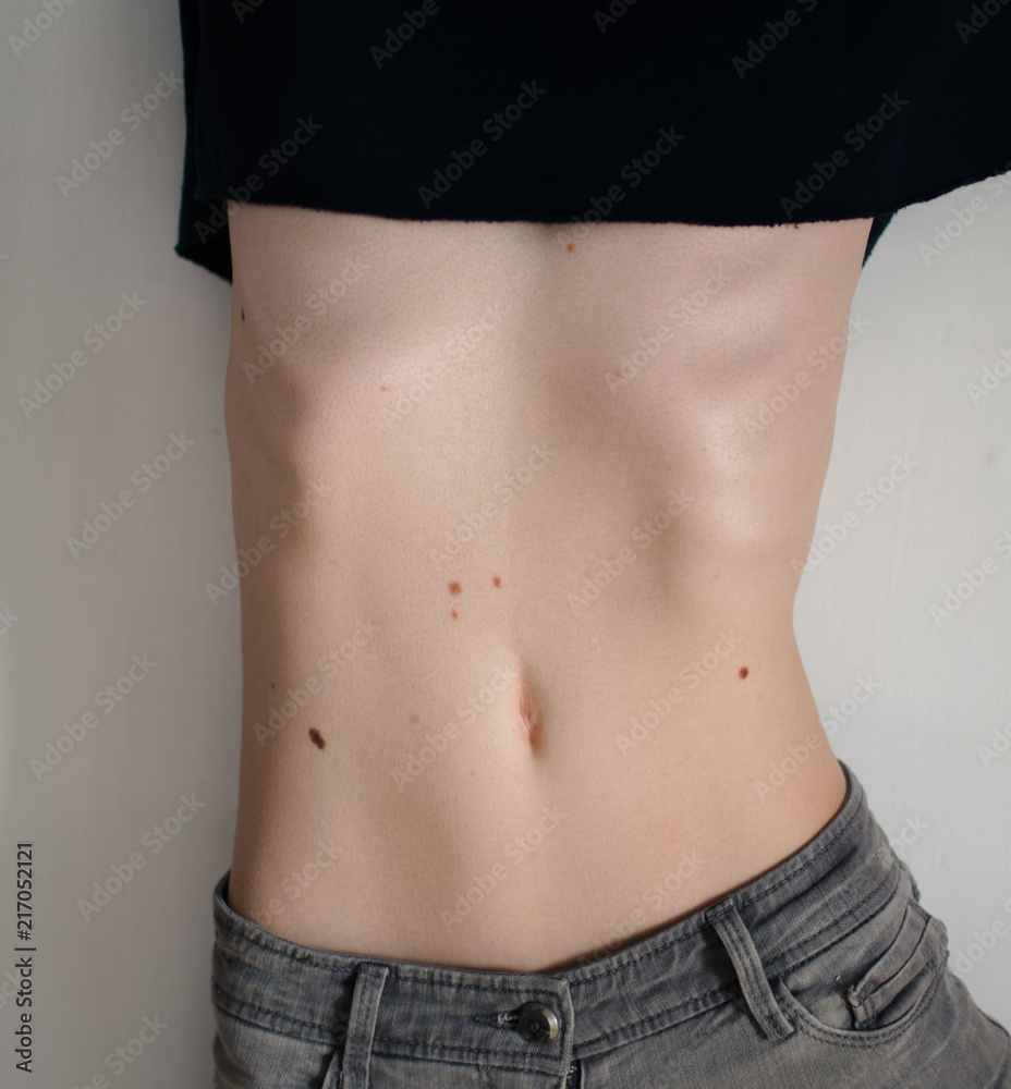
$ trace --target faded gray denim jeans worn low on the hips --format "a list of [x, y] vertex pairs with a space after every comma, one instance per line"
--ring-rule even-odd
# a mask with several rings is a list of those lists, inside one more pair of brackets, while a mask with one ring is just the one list
[[[841, 762], [841, 761], [840, 761]], [[768, 873], [550, 974], [326, 953], [214, 892], [217, 1089], [1011, 1089], [1011, 1039], [843, 763]]]

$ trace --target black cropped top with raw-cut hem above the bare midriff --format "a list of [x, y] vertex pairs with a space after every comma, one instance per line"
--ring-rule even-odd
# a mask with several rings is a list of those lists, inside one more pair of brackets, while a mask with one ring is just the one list
[[541, 223], [873, 217], [866, 261], [898, 209], [1011, 170], [1009, 0], [180, 14], [175, 250], [228, 280], [227, 200]]

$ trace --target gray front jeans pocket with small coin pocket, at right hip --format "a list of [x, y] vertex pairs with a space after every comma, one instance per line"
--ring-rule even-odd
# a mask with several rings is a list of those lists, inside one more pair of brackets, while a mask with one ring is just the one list
[[783, 1012], [799, 1028], [823, 1039], [874, 1044], [912, 1027], [947, 960], [943, 922], [910, 896], [891, 901], [777, 984]]

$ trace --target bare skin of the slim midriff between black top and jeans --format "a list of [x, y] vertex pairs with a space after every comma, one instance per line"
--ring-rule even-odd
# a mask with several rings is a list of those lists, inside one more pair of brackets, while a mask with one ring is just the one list
[[557, 970], [831, 820], [793, 604], [869, 227], [233, 206], [236, 911]]

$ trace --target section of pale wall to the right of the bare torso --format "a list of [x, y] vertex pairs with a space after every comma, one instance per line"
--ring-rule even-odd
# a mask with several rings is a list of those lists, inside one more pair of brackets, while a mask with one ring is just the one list
[[[960, 210], [973, 218], [967, 227]], [[1009, 302], [1011, 173], [904, 208], [889, 224], [853, 299], [835, 448], [808, 558], [816, 565], [803, 576], [795, 613], [823, 715], [852, 696], [860, 678], [880, 685], [851, 717], [852, 703], [832, 720], [833, 748], [912, 867], [922, 903], [945, 920], [950, 966], [1006, 1027]], [[857, 323], [866, 328], [856, 332]], [[992, 388], [984, 389], [988, 369]], [[878, 487], [890, 470], [892, 480]], [[957, 608], [945, 610], [946, 598]], [[995, 922], [1003, 925], [996, 932]], [[980, 949], [979, 938], [991, 947]]]

